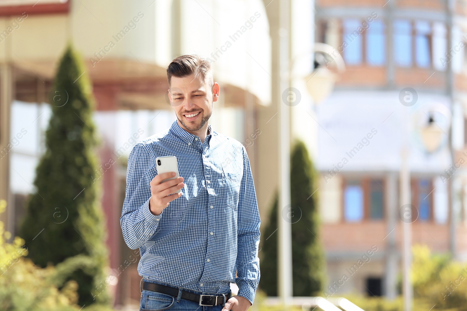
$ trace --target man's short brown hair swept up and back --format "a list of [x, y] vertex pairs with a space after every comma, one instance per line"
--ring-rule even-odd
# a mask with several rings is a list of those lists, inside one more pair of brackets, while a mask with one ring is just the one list
[[[211, 64], [204, 58], [201, 58], [198, 55], [180, 55], [170, 62], [169, 67], [167, 67], [167, 80], [169, 81], [169, 87], [172, 76], [182, 78], [194, 73], [195, 77], [201, 74], [205, 80], [209, 71], [211, 71]], [[212, 79], [210, 80], [209, 84], [212, 86], [213, 81]]]

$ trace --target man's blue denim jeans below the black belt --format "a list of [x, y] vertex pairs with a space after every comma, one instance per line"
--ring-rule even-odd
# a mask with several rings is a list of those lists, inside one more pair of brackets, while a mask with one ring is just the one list
[[[183, 299], [182, 296], [182, 288], [177, 286], [173, 286], [167, 283], [162, 283], [154, 280], [144, 279], [144, 282], [149, 283], [156, 283], [156, 284], [163, 284], [165, 286], [170, 286], [173, 288], [178, 289], [178, 297], [174, 297], [168, 294], [163, 294], [157, 291], [152, 290], [142, 290], [141, 293], [141, 303], [140, 303], [140, 311], [221, 311], [224, 304], [218, 304], [215, 306], [201, 306], [198, 302], [194, 302], [191, 300]], [[191, 293], [198, 293], [193, 290], [183, 289], [184, 291], [188, 291]], [[230, 291], [230, 290], [229, 290]], [[226, 292], [224, 294], [228, 294]], [[219, 295], [219, 293], [203, 293], [206, 295]]]

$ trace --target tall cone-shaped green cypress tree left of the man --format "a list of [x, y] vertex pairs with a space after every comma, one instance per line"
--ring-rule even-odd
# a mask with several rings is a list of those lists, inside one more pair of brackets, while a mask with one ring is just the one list
[[58, 265], [61, 283], [78, 283], [78, 304], [107, 303], [105, 222], [94, 183], [94, 98], [84, 64], [71, 46], [60, 61], [50, 104], [46, 151], [36, 168], [21, 236], [35, 264]]

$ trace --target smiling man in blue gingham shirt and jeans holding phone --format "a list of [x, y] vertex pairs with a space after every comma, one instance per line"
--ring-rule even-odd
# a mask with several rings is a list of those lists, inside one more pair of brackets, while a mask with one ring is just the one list
[[[131, 151], [120, 219], [128, 247], [140, 248], [140, 308], [246, 311], [260, 279], [260, 217], [247, 152], [208, 124], [219, 99], [209, 62], [179, 56], [167, 78], [177, 120]], [[161, 182], [175, 176], [157, 174], [162, 156], [177, 157], [180, 177]]]

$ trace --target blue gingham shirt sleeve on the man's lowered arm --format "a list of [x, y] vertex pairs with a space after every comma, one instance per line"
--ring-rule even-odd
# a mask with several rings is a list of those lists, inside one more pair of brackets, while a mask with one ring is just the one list
[[238, 204], [237, 277], [238, 296], [247, 298], [251, 304], [260, 280], [258, 246], [260, 242], [260, 215], [256, 201], [255, 185], [248, 155], [243, 148], [243, 178]]

